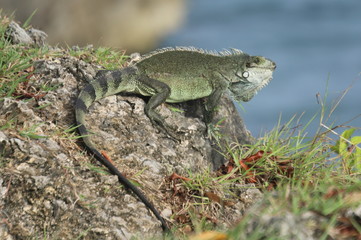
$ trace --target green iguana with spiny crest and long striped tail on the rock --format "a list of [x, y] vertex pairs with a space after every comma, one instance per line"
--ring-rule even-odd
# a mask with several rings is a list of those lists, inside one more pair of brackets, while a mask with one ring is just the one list
[[145, 114], [154, 126], [174, 136], [173, 128], [155, 111], [160, 104], [206, 98], [205, 109], [211, 116], [225, 92], [235, 101], [249, 101], [272, 79], [275, 67], [276, 64], [267, 58], [250, 56], [237, 49], [223, 52], [192, 47], [159, 49], [141, 56], [128, 67], [102, 72], [84, 87], [75, 104], [78, 131], [87, 150], [141, 199], [166, 230], [167, 224], [155, 207], [91, 142], [84, 125], [89, 106], [101, 98], [122, 92], [150, 96]]

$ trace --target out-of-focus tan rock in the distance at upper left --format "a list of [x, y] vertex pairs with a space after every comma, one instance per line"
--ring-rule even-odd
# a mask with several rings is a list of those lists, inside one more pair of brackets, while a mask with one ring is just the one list
[[0, 8], [62, 46], [108, 46], [147, 51], [185, 18], [185, 0], [0, 0]]

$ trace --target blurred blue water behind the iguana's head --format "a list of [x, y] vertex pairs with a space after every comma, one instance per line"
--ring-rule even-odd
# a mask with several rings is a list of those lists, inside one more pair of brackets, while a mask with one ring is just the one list
[[[361, 114], [360, 0], [192, 0], [186, 23], [162, 46], [232, 47], [275, 61], [272, 82], [242, 103], [240, 113], [255, 136], [271, 130], [280, 114], [286, 122], [305, 112], [306, 124], [320, 110], [317, 93], [327, 91], [331, 108], [350, 85], [325, 123]], [[318, 125], [316, 120], [311, 132]], [[347, 125], [361, 127], [361, 116]]]

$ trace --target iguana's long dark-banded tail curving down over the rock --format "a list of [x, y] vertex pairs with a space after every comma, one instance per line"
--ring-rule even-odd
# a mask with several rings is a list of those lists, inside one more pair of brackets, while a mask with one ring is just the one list
[[[114, 76], [114, 73], [115, 72], [113, 72], [113, 74], [111, 75]], [[119, 72], [118, 77], [120, 77], [120, 75], [121, 73]], [[75, 103], [75, 118], [76, 118], [76, 124], [78, 125], [79, 134], [82, 137], [83, 143], [85, 145], [85, 148], [88, 150], [88, 152], [90, 152], [90, 154], [92, 154], [101, 164], [106, 166], [112, 174], [117, 175], [119, 182], [121, 182], [126, 188], [130, 189], [145, 204], [145, 206], [148, 207], [153, 212], [153, 214], [161, 222], [163, 231], [169, 231], [165, 220], [160, 216], [159, 212], [155, 209], [153, 204], [151, 204], [149, 200], [144, 196], [144, 194], [136, 186], [134, 186], [126, 177], [124, 177], [123, 174], [111, 162], [109, 162], [98, 150], [96, 150], [96, 148], [94, 147], [93, 143], [89, 138], [89, 133], [84, 125], [85, 115], [88, 111], [89, 106], [92, 105], [93, 102], [95, 102], [100, 98], [110, 95], [109, 92], [107, 91], [108, 89], [105, 89], [105, 85], [107, 84], [105, 82], [106, 80], [107, 79], [103, 76], [99, 79], [98, 82], [93, 82], [91, 84], [88, 84], [80, 92], [79, 97]], [[114, 83], [114, 79], [111, 78], [110, 81]], [[121, 80], [117, 79], [117, 81], [121, 81]], [[97, 87], [99, 86], [101, 87], [100, 88], [101, 92], [97, 93], [96, 89], [98, 89]]]

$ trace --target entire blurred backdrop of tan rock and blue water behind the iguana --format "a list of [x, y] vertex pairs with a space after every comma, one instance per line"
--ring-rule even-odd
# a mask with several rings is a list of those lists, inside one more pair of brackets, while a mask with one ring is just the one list
[[[330, 126], [361, 114], [359, 0], [0, 0], [0, 8], [32, 25], [49, 42], [146, 52], [156, 47], [238, 48], [274, 60], [272, 82], [240, 110], [253, 135], [271, 130], [282, 114], [306, 124], [327, 93]], [[361, 117], [346, 123], [361, 127]], [[318, 127], [318, 119], [310, 131]], [[339, 131], [341, 132], [341, 130]]]

